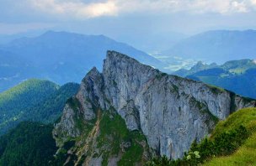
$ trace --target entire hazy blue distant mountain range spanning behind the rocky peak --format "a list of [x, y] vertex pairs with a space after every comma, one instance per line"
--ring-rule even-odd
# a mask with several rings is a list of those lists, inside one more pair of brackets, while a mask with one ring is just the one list
[[[208, 31], [186, 39], [180, 35], [179, 39], [174, 39], [179, 41], [176, 44], [165, 39], [171, 48], [152, 54], [154, 57], [104, 35], [48, 31], [38, 37], [14, 39], [8, 44], [6, 42], [14, 37], [5, 38], [2, 42], [5, 44], [0, 45], [0, 91], [29, 78], [52, 80], [61, 85], [70, 81], [79, 82], [93, 66], [101, 70], [104, 53], [108, 49], [131, 54], [141, 63], [167, 73], [189, 69], [198, 60], [222, 64], [228, 60], [256, 57], [255, 30]], [[140, 42], [134, 41], [134, 44], [140, 45]], [[152, 43], [148, 40], [141, 48], [153, 50]], [[155, 46], [161, 49], [161, 45]]]

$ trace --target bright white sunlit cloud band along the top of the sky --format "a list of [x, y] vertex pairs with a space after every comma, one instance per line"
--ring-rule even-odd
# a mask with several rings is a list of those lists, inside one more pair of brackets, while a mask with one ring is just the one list
[[256, 10], [256, 0], [28, 0], [33, 8], [67, 18], [95, 18], [122, 13], [248, 13]]

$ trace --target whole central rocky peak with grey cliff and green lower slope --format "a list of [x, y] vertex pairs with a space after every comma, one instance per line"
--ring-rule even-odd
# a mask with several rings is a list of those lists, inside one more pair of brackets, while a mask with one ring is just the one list
[[152, 155], [181, 158], [219, 120], [255, 106], [256, 101], [231, 91], [167, 75], [108, 51], [103, 72], [88, 72], [55, 125], [56, 159], [140, 165]]

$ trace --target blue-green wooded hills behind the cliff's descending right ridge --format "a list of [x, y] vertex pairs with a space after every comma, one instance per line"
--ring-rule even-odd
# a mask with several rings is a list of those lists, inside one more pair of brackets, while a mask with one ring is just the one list
[[190, 70], [178, 70], [173, 74], [256, 98], [255, 60], [232, 60], [223, 65], [202, 65], [199, 62]]

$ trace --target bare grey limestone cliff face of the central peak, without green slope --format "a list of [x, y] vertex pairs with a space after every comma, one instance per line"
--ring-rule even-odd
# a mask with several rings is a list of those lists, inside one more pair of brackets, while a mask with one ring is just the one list
[[58, 139], [79, 136], [77, 115], [86, 122], [96, 117], [95, 108], [114, 107], [131, 131], [141, 130], [150, 148], [170, 158], [182, 157], [218, 119], [256, 106], [230, 91], [164, 74], [115, 51], [108, 51], [102, 74], [93, 68], [86, 75], [75, 98], [78, 111], [67, 104], [54, 130]]

